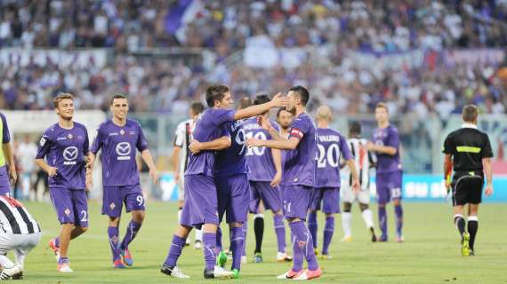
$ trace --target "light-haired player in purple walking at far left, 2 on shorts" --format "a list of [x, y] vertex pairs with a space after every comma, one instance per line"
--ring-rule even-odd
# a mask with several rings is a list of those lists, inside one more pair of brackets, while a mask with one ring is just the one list
[[72, 272], [68, 245], [88, 228], [88, 201], [84, 191], [92, 182], [88, 131], [83, 124], [73, 120], [74, 98], [71, 94], [59, 94], [53, 99], [53, 105], [60, 120], [44, 131], [36, 165], [49, 176], [52, 205], [61, 224], [60, 236], [49, 242], [58, 258], [57, 271]]

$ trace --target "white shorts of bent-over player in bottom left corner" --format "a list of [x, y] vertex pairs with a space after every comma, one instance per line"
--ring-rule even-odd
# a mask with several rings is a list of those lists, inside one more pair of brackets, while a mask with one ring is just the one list
[[0, 254], [5, 255], [9, 250], [16, 249], [22, 256], [35, 248], [41, 241], [41, 233], [14, 234], [0, 233]]

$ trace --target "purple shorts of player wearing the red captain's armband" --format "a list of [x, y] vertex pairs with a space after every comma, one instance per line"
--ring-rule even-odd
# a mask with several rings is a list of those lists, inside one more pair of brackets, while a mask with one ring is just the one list
[[313, 188], [304, 185], [284, 186], [284, 216], [306, 220]]

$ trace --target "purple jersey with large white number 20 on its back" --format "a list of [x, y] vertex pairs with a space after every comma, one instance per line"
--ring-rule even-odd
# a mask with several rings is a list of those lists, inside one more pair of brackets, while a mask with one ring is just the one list
[[352, 159], [347, 139], [330, 128], [317, 129], [317, 183], [315, 187], [340, 187], [340, 157]]

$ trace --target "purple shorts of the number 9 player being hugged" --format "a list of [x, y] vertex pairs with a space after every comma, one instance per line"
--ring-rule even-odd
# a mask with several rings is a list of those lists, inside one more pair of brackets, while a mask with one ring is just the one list
[[226, 222], [244, 223], [248, 217], [250, 203], [250, 184], [246, 174], [229, 177], [215, 177], [218, 195], [218, 217], [221, 222], [227, 212]]

